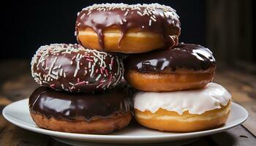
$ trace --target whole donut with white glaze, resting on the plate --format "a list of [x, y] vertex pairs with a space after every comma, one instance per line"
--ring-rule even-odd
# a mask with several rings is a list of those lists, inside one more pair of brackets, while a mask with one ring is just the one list
[[134, 96], [135, 119], [159, 131], [202, 131], [225, 124], [230, 100], [230, 93], [214, 82], [194, 91], [139, 91]]

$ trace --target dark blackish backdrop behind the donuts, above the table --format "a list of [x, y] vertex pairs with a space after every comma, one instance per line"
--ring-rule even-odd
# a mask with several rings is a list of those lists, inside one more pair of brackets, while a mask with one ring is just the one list
[[[170, 1], [14, 1], [2, 5], [1, 60], [28, 58], [40, 45], [75, 43], [77, 12], [94, 3], [124, 2], [169, 5], [181, 20], [180, 42], [209, 47], [220, 61], [255, 64], [253, 0]], [[243, 54], [244, 53], [244, 54]]]

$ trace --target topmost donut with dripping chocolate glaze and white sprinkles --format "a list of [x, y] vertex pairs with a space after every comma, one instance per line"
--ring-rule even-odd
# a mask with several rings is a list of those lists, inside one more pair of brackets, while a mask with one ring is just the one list
[[118, 53], [173, 47], [181, 34], [176, 10], [160, 4], [94, 4], [78, 12], [80, 45]]

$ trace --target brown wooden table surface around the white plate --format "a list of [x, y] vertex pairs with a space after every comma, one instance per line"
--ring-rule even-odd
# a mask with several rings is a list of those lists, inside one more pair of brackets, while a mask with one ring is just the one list
[[[29, 61], [1, 61], [0, 69], [0, 111], [12, 101], [28, 98], [38, 87], [31, 78]], [[233, 101], [248, 110], [249, 118], [242, 126], [202, 137], [189, 145], [256, 145], [256, 75], [218, 66], [214, 80], [230, 91]], [[0, 115], [0, 146], [12, 145], [64, 146], [46, 135], [18, 128]]]

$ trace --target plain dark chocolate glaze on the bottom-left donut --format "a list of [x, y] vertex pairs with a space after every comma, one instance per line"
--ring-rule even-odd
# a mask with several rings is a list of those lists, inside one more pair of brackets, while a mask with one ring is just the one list
[[47, 118], [73, 120], [83, 117], [85, 120], [129, 111], [129, 97], [121, 88], [106, 93], [68, 93], [39, 87], [29, 98], [30, 111], [45, 115]]

